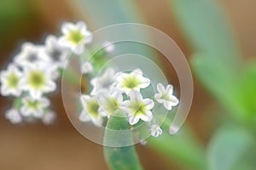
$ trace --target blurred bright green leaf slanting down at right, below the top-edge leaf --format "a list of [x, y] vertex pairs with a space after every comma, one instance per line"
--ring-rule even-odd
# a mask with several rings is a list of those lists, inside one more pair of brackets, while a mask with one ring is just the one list
[[221, 59], [209, 54], [193, 55], [191, 65], [197, 78], [218, 102], [237, 120], [241, 119], [245, 111], [238, 101], [238, 71], [234, 71], [232, 65], [226, 65]]

